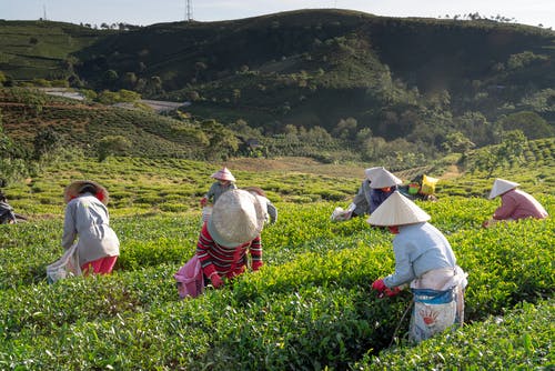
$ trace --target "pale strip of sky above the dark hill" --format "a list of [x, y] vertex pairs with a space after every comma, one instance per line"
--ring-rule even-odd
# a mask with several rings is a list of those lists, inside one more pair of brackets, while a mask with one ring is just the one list
[[[309, 8], [360, 10], [376, 16], [451, 18], [478, 12], [555, 29], [555, 0], [190, 0], [196, 21], [231, 20]], [[185, 19], [186, 0], [0, 0], [0, 19], [148, 26]]]

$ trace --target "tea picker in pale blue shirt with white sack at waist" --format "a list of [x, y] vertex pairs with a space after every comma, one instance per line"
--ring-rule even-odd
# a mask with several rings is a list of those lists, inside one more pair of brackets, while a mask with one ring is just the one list
[[395, 234], [395, 272], [375, 280], [372, 289], [394, 297], [411, 287], [414, 309], [410, 339], [420, 342], [464, 319], [466, 273], [456, 264], [450, 242], [427, 221], [431, 217], [398, 191], [369, 218], [372, 225]]

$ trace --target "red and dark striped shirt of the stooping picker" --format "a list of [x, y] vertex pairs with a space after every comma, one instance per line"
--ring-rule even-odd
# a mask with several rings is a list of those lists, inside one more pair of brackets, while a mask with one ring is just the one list
[[262, 241], [260, 235], [254, 240], [243, 243], [239, 247], [228, 248], [218, 244], [210, 232], [206, 223], [202, 225], [196, 243], [196, 254], [201, 261], [204, 275], [216, 272], [219, 275], [232, 278], [244, 272], [248, 264], [246, 252], [251, 254], [252, 270], [259, 270], [262, 267]]

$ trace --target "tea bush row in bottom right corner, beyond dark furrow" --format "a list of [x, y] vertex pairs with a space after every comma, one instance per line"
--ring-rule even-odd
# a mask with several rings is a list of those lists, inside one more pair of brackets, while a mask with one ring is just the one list
[[553, 299], [523, 302], [503, 317], [490, 315], [417, 347], [367, 354], [356, 370], [552, 370]]

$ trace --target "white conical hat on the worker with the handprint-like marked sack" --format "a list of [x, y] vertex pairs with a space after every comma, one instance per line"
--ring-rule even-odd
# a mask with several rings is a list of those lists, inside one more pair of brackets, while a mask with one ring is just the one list
[[404, 225], [428, 221], [431, 217], [413, 201], [393, 192], [366, 220], [372, 225]]

